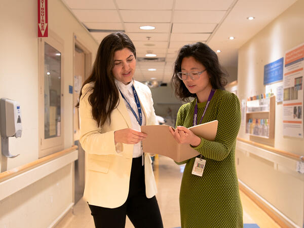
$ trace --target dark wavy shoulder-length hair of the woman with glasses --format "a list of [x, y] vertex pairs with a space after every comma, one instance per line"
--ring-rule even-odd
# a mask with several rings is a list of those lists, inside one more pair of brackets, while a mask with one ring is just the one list
[[171, 79], [171, 83], [175, 88], [175, 96], [183, 101], [189, 101], [189, 97], [197, 97], [196, 94], [190, 93], [182, 80], [177, 77], [177, 73], [181, 71], [182, 59], [190, 56], [194, 57], [196, 61], [206, 67], [212, 88], [224, 90], [224, 87], [227, 84], [225, 78], [227, 76], [226, 70], [220, 66], [217, 54], [209, 48], [208, 45], [197, 42], [195, 44], [185, 45], [179, 50], [174, 63], [174, 73]]

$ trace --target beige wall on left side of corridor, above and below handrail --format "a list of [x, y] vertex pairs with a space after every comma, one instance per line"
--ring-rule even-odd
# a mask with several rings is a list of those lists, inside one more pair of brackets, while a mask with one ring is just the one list
[[[68, 93], [68, 86], [73, 86], [73, 34], [92, 52], [93, 59], [98, 44], [60, 0], [49, 1], [48, 7], [49, 29], [64, 41], [63, 113], [64, 148], [67, 148], [73, 144], [73, 97]], [[7, 168], [12, 169], [39, 157], [37, 120], [42, 107], [38, 105], [37, 1], [2, 0], [0, 29], [0, 97], [18, 101], [22, 115], [22, 137], [9, 139], [11, 154], [20, 154], [8, 159]], [[0, 201], [0, 226], [47, 227], [72, 203], [73, 165], [69, 164]]]

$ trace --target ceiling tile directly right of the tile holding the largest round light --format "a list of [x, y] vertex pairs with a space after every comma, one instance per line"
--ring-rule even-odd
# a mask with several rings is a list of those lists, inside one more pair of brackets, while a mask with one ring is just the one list
[[172, 25], [172, 33], [213, 32], [216, 25], [216, 23], [174, 23]]

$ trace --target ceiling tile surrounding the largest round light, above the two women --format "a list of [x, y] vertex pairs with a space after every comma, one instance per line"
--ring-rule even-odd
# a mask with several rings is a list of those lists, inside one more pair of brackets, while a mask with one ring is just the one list
[[142, 30], [139, 27], [144, 25], [154, 26], [155, 29], [148, 30], [148, 32], [169, 32], [170, 23], [125, 23], [126, 32], [147, 32], [147, 30]]

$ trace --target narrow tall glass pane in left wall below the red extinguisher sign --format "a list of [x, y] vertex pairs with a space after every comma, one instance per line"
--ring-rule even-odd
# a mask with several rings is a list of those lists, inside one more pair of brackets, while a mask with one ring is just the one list
[[61, 53], [45, 43], [45, 139], [61, 135]]

